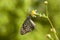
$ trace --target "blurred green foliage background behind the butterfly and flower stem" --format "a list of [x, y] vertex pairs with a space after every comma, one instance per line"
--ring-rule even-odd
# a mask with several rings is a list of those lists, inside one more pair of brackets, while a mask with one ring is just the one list
[[[49, 40], [46, 34], [50, 32], [50, 24], [45, 18], [32, 19], [35, 30], [25, 35], [20, 34], [20, 29], [28, 9], [37, 9], [44, 13], [45, 0], [0, 0], [0, 40]], [[47, 0], [49, 17], [60, 39], [60, 0]]]

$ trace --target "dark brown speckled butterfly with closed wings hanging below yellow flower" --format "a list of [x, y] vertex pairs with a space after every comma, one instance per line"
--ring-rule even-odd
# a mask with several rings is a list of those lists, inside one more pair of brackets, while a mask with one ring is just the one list
[[27, 19], [24, 21], [22, 28], [21, 28], [21, 35], [24, 35], [28, 32], [31, 32], [32, 30], [34, 30], [35, 28], [35, 24], [34, 22], [31, 20], [31, 17], [28, 16]]

